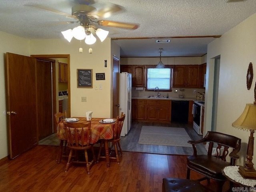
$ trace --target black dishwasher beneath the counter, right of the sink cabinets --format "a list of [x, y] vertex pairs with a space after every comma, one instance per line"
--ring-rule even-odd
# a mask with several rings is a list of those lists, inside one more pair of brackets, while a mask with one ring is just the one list
[[171, 121], [176, 123], [188, 123], [189, 101], [172, 101]]

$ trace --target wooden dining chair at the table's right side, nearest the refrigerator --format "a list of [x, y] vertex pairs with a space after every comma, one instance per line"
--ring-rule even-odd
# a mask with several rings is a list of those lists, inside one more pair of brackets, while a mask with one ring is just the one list
[[[116, 123], [114, 125], [113, 138], [107, 139], [107, 140], [102, 139], [100, 141], [100, 150], [98, 153], [97, 162], [99, 162], [100, 158], [106, 159], [106, 156], [103, 156], [103, 155], [101, 156], [101, 150], [102, 150], [103, 145], [105, 145], [104, 144], [105, 141], [107, 141], [107, 142], [111, 142], [112, 144], [114, 144], [114, 149], [115, 149], [115, 154], [116, 154], [116, 157], [110, 157], [110, 160], [115, 160], [115, 161], [117, 161], [118, 164], [120, 163], [120, 160], [123, 156], [123, 152], [122, 152], [121, 145], [120, 145], [120, 139], [121, 139], [120, 134], [121, 134], [122, 127], [124, 124], [124, 119], [125, 119], [125, 114], [122, 112], [120, 118], [119, 118], [119, 116], [117, 116], [117, 118], [116, 118]], [[120, 155], [118, 154], [118, 147], [119, 147]]]

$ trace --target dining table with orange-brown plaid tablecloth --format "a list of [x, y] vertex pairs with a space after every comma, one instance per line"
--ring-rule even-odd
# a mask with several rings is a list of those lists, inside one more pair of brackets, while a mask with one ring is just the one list
[[[77, 121], [72, 123], [84, 123], [87, 124], [88, 121], [84, 117], [74, 117], [77, 119]], [[113, 119], [114, 122], [112, 123], [106, 123], [104, 121], [104, 118], [92, 118], [91, 119], [91, 132], [90, 132], [90, 143], [95, 144], [99, 140], [104, 139], [105, 140], [105, 155], [106, 155], [106, 165], [107, 167], [110, 167], [110, 157], [109, 157], [109, 149], [108, 149], [108, 139], [112, 139], [114, 135], [114, 125], [116, 122], [116, 119]], [[60, 121], [60, 123], [57, 126], [57, 136], [60, 141], [67, 140], [66, 137], [66, 131], [64, 129], [64, 121]], [[62, 142], [63, 143], [63, 142]], [[62, 150], [61, 150], [62, 151]], [[61, 155], [60, 157], [61, 158]], [[60, 161], [60, 159], [57, 159], [57, 161]]]

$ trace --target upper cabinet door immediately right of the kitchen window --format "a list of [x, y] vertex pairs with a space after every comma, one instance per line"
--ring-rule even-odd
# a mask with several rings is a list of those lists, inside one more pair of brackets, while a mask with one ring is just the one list
[[174, 65], [173, 87], [186, 87], [186, 65]]

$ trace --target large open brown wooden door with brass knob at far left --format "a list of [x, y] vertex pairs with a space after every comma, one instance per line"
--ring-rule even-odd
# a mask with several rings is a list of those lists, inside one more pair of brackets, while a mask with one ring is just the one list
[[37, 145], [36, 59], [6, 53], [6, 109], [10, 158]]

